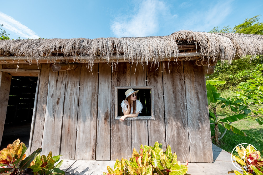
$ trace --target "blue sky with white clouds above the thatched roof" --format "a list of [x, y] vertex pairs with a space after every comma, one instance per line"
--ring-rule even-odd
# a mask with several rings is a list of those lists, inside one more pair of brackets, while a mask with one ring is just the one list
[[0, 24], [11, 39], [164, 36], [234, 27], [263, 13], [262, 0], [6, 0], [1, 5]]

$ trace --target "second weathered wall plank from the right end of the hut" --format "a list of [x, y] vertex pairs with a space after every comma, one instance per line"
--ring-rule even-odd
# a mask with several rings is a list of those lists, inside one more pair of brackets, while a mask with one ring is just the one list
[[171, 146], [172, 152], [176, 152], [178, 161], [189, 161], [188, 123], [182, 61], [179, 61], [178, 64], [170, 64], [169, 67], [168, 63], [165, 62], [163, 86], [166, 144]]

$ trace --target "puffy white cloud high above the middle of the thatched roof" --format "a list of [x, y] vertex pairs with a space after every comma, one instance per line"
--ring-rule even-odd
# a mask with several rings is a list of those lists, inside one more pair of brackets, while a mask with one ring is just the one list
[[117, 37], [141, 37], [154, 35], [160, 27], [160, 19], [175, 18], [163, 1], [146, 0], [139, 4], [134, 14], [115, 18], [111, 31]]

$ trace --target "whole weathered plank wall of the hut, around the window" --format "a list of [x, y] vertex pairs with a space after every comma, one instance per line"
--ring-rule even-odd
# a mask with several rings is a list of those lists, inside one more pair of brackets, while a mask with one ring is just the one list
[[[169, 144], [179, 161], [213, 162], [204, 70], [191, 62], [96, 63], [54, 73], [42, 65], [32, 149], [66, 159], [116, 160]], [[115, 86], [154, 86], [155, 120], [114, 120]]]

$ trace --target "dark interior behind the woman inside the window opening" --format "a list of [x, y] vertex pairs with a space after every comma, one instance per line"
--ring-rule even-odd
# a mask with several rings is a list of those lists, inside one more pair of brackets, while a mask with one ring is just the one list
[[[118, 89], [118, 116], [123, 116], [121, 103], [126, 98], [125, 92], [128, 89]], [[150, 89], [134, 89], [134, 91], [139, 90], [137, 93], [137, 100], [143, 105], [140, 116], [151, 116], [151, 90]]]

